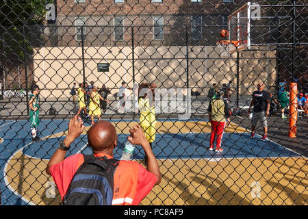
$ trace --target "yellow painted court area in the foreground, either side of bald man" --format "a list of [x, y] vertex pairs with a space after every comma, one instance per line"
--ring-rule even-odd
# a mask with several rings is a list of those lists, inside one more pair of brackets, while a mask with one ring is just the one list
[[[307, 205], [307, 161], [303, 157], [160, 159], [162, 183], [141, 204]], [[53, 180], [44, 172], [47, 163], [18, 151], [5, 169], [12, 190], [34, 205], [58, 205], [56, 189], [55, 198], [48, 198]], [[253, 197], [257, 189], [259, 197]]]

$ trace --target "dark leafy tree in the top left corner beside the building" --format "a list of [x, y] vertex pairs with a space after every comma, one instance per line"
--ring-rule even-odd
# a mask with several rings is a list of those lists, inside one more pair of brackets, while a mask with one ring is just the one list
[[6, 69], [31, 61], [33, 46], [45, 22], [45, 5], [52, 0], [0, 1], [0, 78]]

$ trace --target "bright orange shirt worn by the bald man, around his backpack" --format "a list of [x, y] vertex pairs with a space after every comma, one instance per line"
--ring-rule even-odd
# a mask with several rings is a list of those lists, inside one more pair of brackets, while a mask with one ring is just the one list
[[[105, 153], [96, 157], [112, 157]], [[63, 200], [75, 172], [84, 163], [84, 155], [76, 154], [64, 159], [63, 162], [51, 166], [51, 176], [57, 185]], [[120, 161], [114, 172], [114, 196], [112, 205], [139, 205], [140, 201], [151, 192], [157, 180], [156, 175], [147, 171], [138, 162]]]

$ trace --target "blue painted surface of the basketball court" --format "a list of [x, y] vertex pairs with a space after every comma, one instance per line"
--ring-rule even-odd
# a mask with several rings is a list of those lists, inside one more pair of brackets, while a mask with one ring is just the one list
[[[131, 120], [110, 120], [111, 123], [118, 121], [129, 123]], [[162, 123], [172, 120], [161, 120]], [[203, 120], [206, 122], [206, 120]], [[185, 123], [185, 122], [183, 122]], [[85, 123], [84, 125], [90, 126]], [[5, 164], [14, 157], [16, 151], [22, 151], [31, 159], [50, 159], [58, 148], [59, 141], [65, 138], [64, 131], [68, 128], [68, 120], [40, 120], [40, 142], [31, 142], [29, 122], [27, 120], [1, 121], [0, 122], [0, 174], [2, 203], [3, 198], [10, 198], [9, 203], [16, 204], [17, 197], [5, 186]], [[55, 136], [53, 134], [59, 133]], [[250, 157], [298, 157], [297, 153], [286, 149], [284, 146], [272, 141], [261, 141], [261, 136], [250, 138], [250, 133], [224, 133], [222, 138], [222, 153], [209, 151], [210, 133], [157, 133], [153, 142], [153, 153], [157, 159], [211, 159], [211, 158], [250, 158]], [[127, 141], [127, 134], [118, 134], [118, 147], [114, 151], [114, 157], [120, 158], [123, 146]], [[71, 145], [67, 155], [75, 153], [91, 154], [87, 146], [87, 136], [80, 136]], [[134, 159], [144, 159], [141, 146], [136, 146]], [[48, 161], [47, 161], [48, 162]], [[15, 200], [16, 199], [16, 200]], [[18, 204], [24, 205], [23, 201]]]

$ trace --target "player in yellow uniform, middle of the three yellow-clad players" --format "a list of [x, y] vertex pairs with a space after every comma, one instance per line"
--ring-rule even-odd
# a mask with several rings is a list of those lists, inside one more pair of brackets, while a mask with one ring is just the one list
[[97, 119], [101, 119], [101, 106], [100, 100], [106, 101], [110, 103], [107, 99], [103, 99], [103, 97], [99, 94], [97, 86], [93, 86], [92, 92], [90, 92], [90, 103], [89, 103], [89, 114], [91, 116], [92, 125], [94, 125], [94, 116], [97, 116]]

